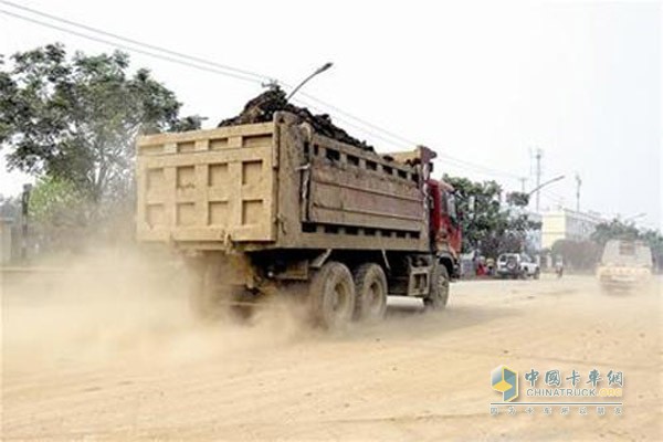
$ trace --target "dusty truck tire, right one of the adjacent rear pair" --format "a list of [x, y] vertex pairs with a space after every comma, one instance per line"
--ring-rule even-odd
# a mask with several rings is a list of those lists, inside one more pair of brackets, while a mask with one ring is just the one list
[[360, 320], [378, 322], [387, 312], [387, 276], [378, 264], [361, 264], [354, 273], [357, 304], [355, 316]]

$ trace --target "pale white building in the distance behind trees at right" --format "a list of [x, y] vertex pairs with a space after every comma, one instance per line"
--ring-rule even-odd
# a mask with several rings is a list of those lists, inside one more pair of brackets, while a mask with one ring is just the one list
[[541, 214], [541, 246], [549, 249], [557, 240], [588, 240], [603, 219], [598, 213], [560, 209]]

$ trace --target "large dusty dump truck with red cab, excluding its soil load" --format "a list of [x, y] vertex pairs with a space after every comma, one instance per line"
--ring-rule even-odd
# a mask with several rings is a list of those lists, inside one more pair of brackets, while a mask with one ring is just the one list
[[137, 140], [137, 239], [196, 269], [193, 311], [298, 292], [325, 327], [379, 319], [387, 296], [443, 308], [459, 273], [451, 186], [435, 152], [378, 155], [296, 115]]

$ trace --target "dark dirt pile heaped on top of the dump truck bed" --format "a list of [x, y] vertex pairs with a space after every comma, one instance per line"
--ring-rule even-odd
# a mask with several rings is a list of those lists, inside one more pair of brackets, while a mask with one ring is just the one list
[[360, 141], [359, 139], [351, 137], [347, 131], [334, 125], [329, 115], [314, 115], [307, 108], [297, 107], [288, 103], [285, 98], [286, 95], [283, 90], [280, 87], [271, 87], [269, 91], [263, 92], [246, 103], [240, 115], [219, 123], [219, 127], [266, 123], [273, 119], [275, 112], [285, 110], [297, 115], [303, 122], [308, 123], [319, 135], [356, 146], [364, 150], [373, 151], [372, 146], [367, 145], [366, 141]]

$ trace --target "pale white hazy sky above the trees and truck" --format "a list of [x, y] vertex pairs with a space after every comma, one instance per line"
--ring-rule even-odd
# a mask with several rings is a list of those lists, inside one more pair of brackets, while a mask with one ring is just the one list
[[[578, 173], [581, 209], [645, 212], [641, 224], [661, 225], [661, 4], [495, 3], [21, 1], [290, 84], [332, 61], [304, 92], [399, 136], [351, 127], [366, 128], [316, 105], [378, 150], [410, 149], [411, 140], [441, 154], [436, 173], [496, 179], [507, 189], [520, 189], [525, 177], [530, 189], [530, 152], [540, 148], [543, 181], [566, 176], [541, 192], [541, 209], [575, 208]], [[0, 53], [53, 41], [112, 50], [0, 13]], [[183, 114], [208, 116], [208, 126], [261, 92], [146, 55], [131, 60], [177, 93]], [[0, 193], [15, 193], [24, 178], [0, 166]]]

